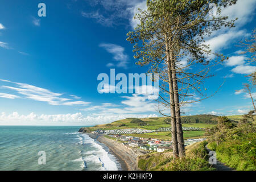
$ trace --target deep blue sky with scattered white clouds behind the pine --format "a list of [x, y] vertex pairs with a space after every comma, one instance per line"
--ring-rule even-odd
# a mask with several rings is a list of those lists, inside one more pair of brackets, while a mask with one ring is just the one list
[[[46, 4], [46, 17], [38, 4]], [[138, 94], [100, 94], [100, 73], [144, 73], [135, 65], [127, 32], [144, 1], [56, 0], [0, 2], [0, 125], [93, 125], [127, 117], [160, 116], [154, 100]], [[238, 0], [223, 14], [238, 17], [236, 28], [221, 29], [207, 42], [230, 56], [212, 71], [214, 97], [183, 108], [186, 115], [244, 114], [251, 101], [242, 90], [255, 71], [236, 45], [255, 27], [256, 1]], [[256, 97], [256, 93], [253, 93]]]

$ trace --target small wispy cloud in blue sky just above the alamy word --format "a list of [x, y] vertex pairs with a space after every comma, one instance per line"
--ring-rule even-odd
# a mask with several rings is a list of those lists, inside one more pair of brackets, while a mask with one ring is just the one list
[[116, 44], [109, 44], [109, 43], [102, 43], [99, 46], [103, 47], [104, 49], [106, 49], [106, 51], [111, 53], [115, 61], [119, 61], [119, 63], [117, 64], [117, 67], [127, 68], [128, 56], [125, 53], [125, 48], [123, 48], [122, 46], [118, 46]]

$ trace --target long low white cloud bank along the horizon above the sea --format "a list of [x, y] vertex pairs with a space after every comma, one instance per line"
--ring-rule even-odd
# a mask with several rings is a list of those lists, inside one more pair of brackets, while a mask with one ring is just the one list
[[147, 118], [158, 117], [156, 114], [114, 114], [89, 116], [81, 113], [75, 114], [35, 114], [20, 115], [18, 112], [12, 114], [1, 113], [0, 125], [95, 125], [109, 123], [125, 118]]

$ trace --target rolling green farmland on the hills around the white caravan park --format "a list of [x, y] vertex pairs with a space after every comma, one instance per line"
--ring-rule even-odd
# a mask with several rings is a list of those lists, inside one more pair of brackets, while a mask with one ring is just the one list
[[[216, 115], [192, 115], [192, 116], [183, 116], [181, 121], [183, 121], [182, 126], [184, 127], [213, 127], [216, 126]], [[228, 118], [238, 121], [242, 118], [242, 115], [231, 115]], [[158, 130], [160, 127], [170, 127], [171, 124], [168, 122], [166, 117], [157, 117], [157, 118], [126, 118], [112, 123], [104, 125], [96, 125], [94, 127], [89, 127], [88, 130], [115, 130], [115, 129], [131, 129], [139, 128], [146, 130]], [[142, 138], [155, 138], [163, 140], [171, 140], [171, 132], [164, 131], [158, 133], [146, 133], [146, 134], [129, 134], [129, 136], [142, 137]], [[204, 131], [184, 131], [184, 138], [197, 138], [203, 137]]]

